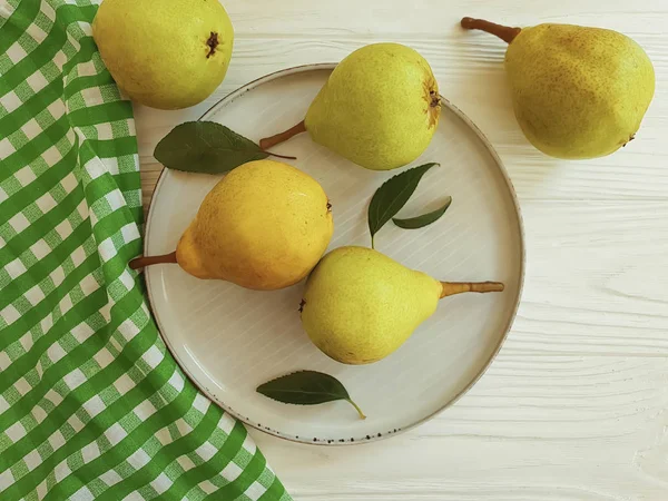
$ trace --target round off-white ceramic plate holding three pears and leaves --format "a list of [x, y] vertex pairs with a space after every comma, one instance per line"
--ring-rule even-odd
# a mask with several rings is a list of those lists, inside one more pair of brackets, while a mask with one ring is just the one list
[[[259, 140], [301, 121], [334, 65], [293, 68], [233, 92], [203, 117]], [[333, 249], [370, 245], [366, 208], [374, 191], [401, 170], [358, 167], [299, 135], [275, 153], [317, 179], [334, 214]], [[478, 128], [444, 101], [439, 129], [412, 166], [438, 161], [400, 217], [453, 202], [436, 223], [401, 229], [391, 222], [376, 249], [443, 281], [501, 281], [503, 293], [441, 301], [391, 356], [348, 366], [321, 353], [299, 322], [304, 284], [276, 292], [200, 281], [176, 265], [148, 267], [153, 311], [167, 346], [214, 402], [247, 424], [285, 439], [350, 444], [391, 436], [453, 403], [482, 375], [514, 318], [523, 281], [523, 236], [518, 200], [498, 155]], [[402, 169], [403, 170], [403, 169]], [[173, 252], [205, 195], [222, 178], [165, 169], [151, 202], [146, 254]], [[298, 370], [337, 377], [367, 415], [346, 402], [287, 405], [261, 395], [266, 381]]]

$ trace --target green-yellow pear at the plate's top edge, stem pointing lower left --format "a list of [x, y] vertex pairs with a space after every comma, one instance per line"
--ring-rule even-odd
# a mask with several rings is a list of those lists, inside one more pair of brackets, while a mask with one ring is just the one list
[[268, 149], [306, 130], [315, 143], [362, 167], [390, 170], [422, 155], [440, 112], [429, 62], [400, 43], [372, 43], [336, 66], [304, 121], [261, 146]]

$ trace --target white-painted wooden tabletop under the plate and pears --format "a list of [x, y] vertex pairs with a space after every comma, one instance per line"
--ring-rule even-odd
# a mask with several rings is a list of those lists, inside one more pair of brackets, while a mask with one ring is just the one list
[[[157, 141], [227, 92], [291, 66], [400, 41], [501, 155], [527, 232], [523, 301], [487, 375], [421, 428], [354, 448], [252, 432], [297, 501], [668, 500], [668, 0], [226, 0], [232, 67], [206, 102], [136, 110], [145, 204]], [[504, 45], [463, 16], [622, 31], [655, 62], [637, 140], [564, 163], [534, 150], [512, 114]]]

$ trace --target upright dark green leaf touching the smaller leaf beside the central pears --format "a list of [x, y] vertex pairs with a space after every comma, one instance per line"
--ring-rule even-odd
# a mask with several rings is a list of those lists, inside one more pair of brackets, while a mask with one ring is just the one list
[[371, 232], [372, 247], [374, 235], [409, 202], [422, 176], [435, 165], [439, 164], [424, 164], [397, 174], [376, 189], [371, 204], [369, 204], [369, 230]]

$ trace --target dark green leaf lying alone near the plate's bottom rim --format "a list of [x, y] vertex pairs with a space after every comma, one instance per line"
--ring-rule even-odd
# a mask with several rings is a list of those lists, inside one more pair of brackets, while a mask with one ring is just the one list
[[336, 400], [345, 400], [366, 419], [362, 410], [351, 400], [341, 382], [328, 374], [316, 371], [298, 371], [277, 377], [257, 386], [257, 392], [278, 402], [296, 405], [316, 405]]

